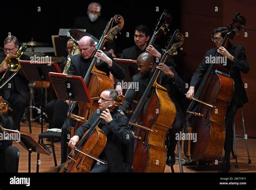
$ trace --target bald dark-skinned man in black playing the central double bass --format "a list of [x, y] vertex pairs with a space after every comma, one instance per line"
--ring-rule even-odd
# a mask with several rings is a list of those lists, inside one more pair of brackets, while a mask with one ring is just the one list
[[177, 72], [172, 66], [167, 66], [164, 63], [160, 63], [158, 66], [154, 63], [153, 56], [149, 52], [142, 53], [137, 59], [138, 74], [135, 74], [132, 77], [133, 83], [138, 83], [138, 91], [134, 88], [129, 88], [125, 95], [125, 101], [123, 105], [119, 106], [119, 110], [122, 110], [122, 113], [125, 113], [127, 109], [131, 106], [133, 100], [139, 100], [144, 91], [146, 90], [147, 84], [152, 77], [152, 74], [156, 69], [161, 70], [161, 83], [160, 85], [164, 86], [170, 98], [172, 99], [174, 105], [177, 109], [176, 119], [172, 125], [172, 128], [169, 130], [168, 138], [169, 144], [167, 145], [167, 160], [166, 164], [172, 166], [175, 164], [175, 147], [177, 145], [176, 134], [181, 131], [184, 116], [181, 111], [181, 107], [177, 101], [177, 96], [184, 94], [186, 92], [185, 83], [178, 76]]

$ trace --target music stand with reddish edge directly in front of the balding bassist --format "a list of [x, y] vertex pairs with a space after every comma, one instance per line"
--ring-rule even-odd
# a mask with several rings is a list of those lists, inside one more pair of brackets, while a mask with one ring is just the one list
[[69, 100], [69, 125], [71, 127], [70, 101], [92, 104], [84, 79], [69, 74], [49, 72], [49, 77], [58, 99]]

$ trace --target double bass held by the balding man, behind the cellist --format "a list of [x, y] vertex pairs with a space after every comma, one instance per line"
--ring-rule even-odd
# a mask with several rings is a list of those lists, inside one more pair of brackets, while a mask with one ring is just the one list
[[[117, 25], [112, 28], [113, 23], [116, 23]], [[103, 50], [104, 44], [106, 42], [112, 42], [113, 38], [117, 38], [117, 33], [120, 32], [120, 30], [124, 26], [124, 19], [120, 15], [116, 15], [109, 23], [107, 23], [107, 26], [105, 28], [105, 31], [103, 32], [102, 37], [100, 38], [97, 50]], [[90, 92], [90, 97], [92, 99], [92, 104], [88, 103], [78, 103], [79, 111], [78, 116], [75, 114], [72, 114], [71, 118], [76, 119], [77, 123], [74, 127], [74, 131], [76, 129], [83, 125], [86, 120], [88, 120], [91, 117], [91, 114], [93, 111], [95, 111], [98, 108], [98, 96], [101, 92], [103, 92], [106, 89], [113, 89], [113, 81], [110, 79], [110, 77], [107, 76], [107, 74], [103, 71], [100, 71], [96, 68], [97, 58], [94, 57], [90, 67], [84, 77], [84, 82], [88, 87], [88, 90]], [[76, 102], [73, 102], [71, 105], [71, 112], [76, 106]], [[72, 135], [71, 135], [72, 136]]]

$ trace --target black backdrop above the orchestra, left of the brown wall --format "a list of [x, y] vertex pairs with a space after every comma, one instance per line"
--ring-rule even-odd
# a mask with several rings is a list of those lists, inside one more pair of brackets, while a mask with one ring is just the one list
[[[31, 38], [36, 42], [45, 42], [52, 46], [52, 35], [58, 35], [59, 28], [72, 28], [75, 18], [86, 16], [87, 6], [92, 1], [17, 1], [17, 3], [1, 2], [0, 15], [2, 29], [0, 30], [0, 46], [8, 36], [8, 32], [16, 36], [19, 42], [29, 42]], [[25, 2], [25, 3], [24, 3]], [[133, 29], [139, 24], [146, 24], [152, 31], [157, 19], [164, 9], [172, 14], [173, 30], [179, 28], [180, 1], [165, 1], [147, 3], [149, 1], [98, 1], [102, 5], [102, 17], [109, 21], [114, 15], [124, 18], [122, 35], [114, 41], [117, 52], [134, 45]], [[171, 4], [170, 4], [171, 2]], [[38, 6], [41, 12], [38, 12]], [[159, 12], [156, 11], [159, 7]], [[130, 32], [130, 38], [126, 37]]]

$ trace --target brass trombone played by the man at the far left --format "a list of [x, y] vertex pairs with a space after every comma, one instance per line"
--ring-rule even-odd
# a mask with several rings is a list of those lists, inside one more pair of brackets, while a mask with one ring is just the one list
[[2, 80], [5, 77], [5, 74], [7, 73], [7, 71], [11, 71], [14, 72], [11, 74], [11, 76], [0, 86], [0, 89], [2, 89], [2, 87], [9, 82], [10, 79], [12, 79], [12, 77], [15, 76], [15, 74], [18, 73], [18, 71], [21, 69], [21, 64], [19, 63], [19, 58], [23, 55], [23, 52], [25, 51], [26, 47], [28, 45], [26, 43], [23, 43], [21, 48], [18, 49], [16, 55], [7, 55], [3, 62], [1, 63], [0, 67], [5, 65], [5, 67], [7, 67], [8, 69], [4, 72], [3, 76], [0, 78], [0, 82], [2, 82]]

